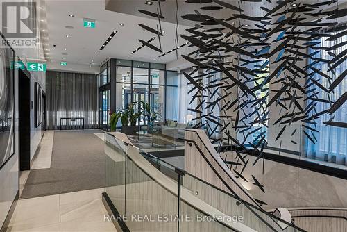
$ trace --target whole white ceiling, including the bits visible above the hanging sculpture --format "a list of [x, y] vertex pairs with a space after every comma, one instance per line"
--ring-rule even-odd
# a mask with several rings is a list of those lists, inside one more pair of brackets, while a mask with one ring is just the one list
[[[150, 38], [157, 37], [153, 33], [144, 31], [139, 23], [150, 26], [151, 28], [156, 28], [158, 24], [157, 19], [153, 19], [137, 12], [139, 9], [150, 10], [152, 12], [156, 11], [158, 7], [158, 2], [154, 1], [153, 6], [146, 6], [144, 3], [146, 0], [108, 0], [112, 2], [112, 10], [118, 10], [122, 13], [105, 10], [105, 0], [46, 0], [45, 12], [46, 12], [46, 22], [43, 22], [46, 27], [47, 39], [44, 41], [45, 53], [49, 53], [49, 61], [54, 65], [59, 65], [60, 61], [64, 60], [68, 65], [91, 65], [97, 67], [101, 65], [108, 58], [122, 58], [127, 60], [140, 60], [155, 63], [175, 63], [176, 62], [176, 52], [171, 52], [166, 56], [158, 58], [160, 53], [149, 49], [148, 47], [143, 47], [134, 54], [130, 52], [137, 49], [142, 44], [138, 41], [147, 41]], [[167, 0], [171, 1], [174, 0]], [[176, 1], [175, 1], [176, 2]], [[202, 14], [205, 13], [204, 10], [200, 10], [201, 6], [215, 6], [214, 3], [209, 4], [189, 4], [184, 3], [184, 0], [178, 0], [180, 4], [180, 15], [186, 13], [194, 14], [194, 9], [199, 10]], [[233, 1], [236, 2], [236, 1]], [[312, 2], [312, 1], [310, 1]], [[316, 2], [316, 0], [314, 1]], [[169, 3], [162, 3], [163, 15], [172, 16], [175, 12], [174, 7]], [[121, 4], [123, 7], [121, 8]], [[156, 5], [155, 5], [156, 4]], [[253, 16], [264, 16], [264, 11], [260, 10], [260, 6], [265, 6], [266, 8], [273, 8], [276, 5], [276, 1], [273, 3], [268, 1], [262, 1], [260, 3], [244, 2], [242, 1], [242, 8], [246, 15]], [[115, 8], [115, 6], [117, 6]], [[187, 9], [183, 10], [183, 8]], [[172, 9], [171, 9], [172, 8]], [[218, 10], [217, 10], [218, 11]], [[221, 13], [212, 12], [209, 15], [213, 17], [231, 17], [232, 10], [222, 10]], [[74, 17], [69, 17], [69, 14], [74, 15]], [[137, 15], [137, 16], [136, 16]], [[180, 16], [179, 16], [180, 17]], [[96, 28], [84, 28], [83, 18], [91, 18], [96, 20]], [[186, 21], [185, 25], [180, 25], [178, 28], [178, 34], [187, 34], [185, 29], [194, 26], [196, 22]], [[253, 24], [255, 22], [249, 22], [246, 20], [240, 20], [236, 22], [237, 24], [250, 24], [250, 28], [255, 27]], [[124, 24], [121, 26], [120, 24]], [[65, 28], [65, 26], [73, 26], [73, 29]], [[43, 27], [44, 28], [44, 27]], [[162, 51], [170, 51], [175, 47], [175, 24], [170, 22], [162, 22], [162, 29], [164, 30], [164, 36], [161, 37]], [[118, 31], [110, 43], [100, 51], [100, 47], [103, 42], [108, 38], [112, 31]], [[70, 35], [67, 38], [66, 35]], [[184, 44], [186, 41], [179, 38], [178, 46]], [[53, 47], [56, 44], [56, 47]], [[159, 47], [158, 38], [155, 38], [151, 44]], [[66, 48], [66, 51], [65, 51]], [[189, 48], [187, 46], [178, 50], [178, 57], [180, 55], [187, 54], [194, 51], [194, 48]], [[67, 53], [64, 55], [63, 53]], [[69, 67], [67, 67], [69, 68]]]

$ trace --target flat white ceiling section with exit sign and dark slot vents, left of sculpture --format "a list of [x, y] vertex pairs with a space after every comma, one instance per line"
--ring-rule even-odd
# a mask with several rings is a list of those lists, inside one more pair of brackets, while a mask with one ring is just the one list
[[[139, 2], [142, 3], [141, 0]], [[99, 66], [108, 58], [124, 58], [155, 63], [169, 63], [176, 59], [176, 53], [158, 58], [160, 53], [148, 47], [143, 47], [136, 53], [130, 54], [131, 51], [142, 45], [138, 39], [147, 41], [153, 36], [156, 37], [153, 33], [144, 31], [137, 24], [141, 23], [156, 28], [158, 21], [115, 13], [104, 10], [104, 8], [104, 0], [46, 0], [46, 33], [48, 39], [45, 42], [45, 51], [49, 53], [51, 63], [66, 61], [68, 65], [90, 65], [92, 63], [92, 65]], [[69, 14], [74, 15], [74, 17], [69, 17]], [[95, 19], [96, 28], [84, 28], [83, 18]], [[124, 24], [124, 26], [120, 24]], [[68, 29], [65, 26], [73, 26], [74, 28]], [[178, 33], [187, 33], [186, 28], [188, 27], [179, 26]], [[162, 22], [162, 29], [165, 31], [164, 36], [161, 37], [162, 51], [174, 49], [175, 24]], [[105, 49], [100, 51], [103, 42], [114, 30], [118, 31], [117, 34]], [[66, 35], [70, 35], [70, 37], [67, 38]], [[186, 42], [182, 38], [179, 38], [179, 40], [178, 45]], [[56, 44], [56, 47], [53, 47], [53, 44]], [[155, 38], [151, 44], [159, 47], [158, 38]], [[192, 48], [187, 49], [187, 47], [181, 50], [185, 54], [193, 51]], [[63, 53], [67, 53], [67, 55]], [[180, 56], [180, 52], [178, 56]]]

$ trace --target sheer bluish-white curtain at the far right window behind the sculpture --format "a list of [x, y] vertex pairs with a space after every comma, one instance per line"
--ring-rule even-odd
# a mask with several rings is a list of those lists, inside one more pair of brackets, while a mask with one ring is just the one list
[[[319, 47], [327, 47], [330, 48], [335, 44], [340, 44], [341, 42], [345, 42], [347, 40], [347, 36], [343, 36], [335, 41], [327, 41], [327, 38], [321, 39], [321, 44], [318, 44], [316, 46]], [[339, 47], [335, 50], [331, 50], [330, 52], [335, 53], [335, 55], [338, 55], [341, 53], [341, 51], [344, 51], [347, 49], [347, 45], [345, 44], [342, 47]], [[310, 49], [310, 53], [315, 52], [317, 50]], [[327, 60], [331, 60], [333, 57], [330, 56], [328, 51], [321, 51], [317, 53], [314, 57], [316, 58], [323, 58]], [[314, 60], [310, 60], [310, 62], [314, 62]], [[347, 68], [347, 60], [344, 60], [341, 65], [339, 65], [337, 68], [334, 69], [336, 75], [333, 75], [332, 72], [328, 72], [328, 65], [325, 63], [317, 63], [314, 65], [316, 69], [321, 70], [321, 72], [328, 74], [328, 76], [332, 77], [332, 81], [339, 76], [344, 70]], [[328, 78], [322, 77], [319, 74], [314, 74], [314, 79], [318, 80], [321, 85], [323, 85], [325, 88], [329, 88], [330, 83], [328, 81]], [[330, 97], [330, 101], [336, 101], [342, 94], [347, 92], [347, 79], [344, 78], [344, 80], [339, 83], [337, 88], [335, 88], [334, 92], [330, 92], [330, 96], [328, 96], [327, 92], [324, 92], [323, 90], [319, 89], [314, 85], [312, 88], [316, 88], [315, 92], [319, 92], [317, 94], [318, 99], [325, 99], [328, 100]], [[312, 94], [312, 92], [310, 93]], [[319, 101], [314, 101], [316, 103], [316, 109], [314, 113], [319, 113], [323, 110], [328, 110], [330, 108], [329, 103], [323, 103]], [[314, 114], [312, 113], [312, 114]], [[328, 121], [332, 116], [334, 116], [333, 121], [338, 122], [347, 122], [347, 107], [346, 103], [344, 106], [341, 106], [337, 112], [335, 112], [333, 115], [324, 114], [321, 115], [319, 119], [316, 119], [316, 130], [319, 131], [319, 133], [312, 133], [313, 138], [316, 138], [316, 144], [311, 142], [310, 140], [307, 140], [307, 156], [310, 158], [316, 158], [319, 160], [327, 160], [334, 163], [344, 163], [346, 164], [346, 154], [347, 154], [347, 129], [334, 127], [334, 126], [325, 126], [323, 122]], [[308, 124], [307, 126], [312, 126]]]

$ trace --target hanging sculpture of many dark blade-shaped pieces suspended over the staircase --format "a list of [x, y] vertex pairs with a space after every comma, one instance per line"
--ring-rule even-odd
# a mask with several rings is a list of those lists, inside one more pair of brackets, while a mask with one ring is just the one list
[[[160, 1], [157, 13], [139, 10], [158, 18], [160, 29], [157, 31], [148, 26], [140, 26], [158, 34], [159, 39], [162, 35], [160, 19], [164, 19]], [[249, 159], [245, 155], [247, 151], [257, 151], [253, 166], [260, 158], [263, 158], [264, 162], [264, 147], [268, 142], [266, 131], [262, 131], [261, 127], [267, 127], [271, 119], [269, 107], [280, 108], [271, 124], [279, 128], [275, 141], [280, 142], [280, 149], [284, 134], [290, 134], [293, 138], [290, 142], [298, 144], [299, 141], [294, 139], [297, 129], [291, 128], [291, 124], [296, 122], [303, 124], [303, 135], [314, 144], [317, 142], [314, 133], [319, 132], [315, 121], [321, 115], [331, 115], [328, 122], [323, 122], [325, 125], [347, 128], [347, 122], [334, 121], [334, 113], [347, 101], [347, 93], [342, 94], [335, 102], [329, 97], [339, 84], [346, 83], [347, 70], [337, 76], [335, 68], [346, 60], [347, 50], [341, 53], [334, 51], [347, 42], [333, 47], [322, 47], [318, 41], [323, 37], [328, 37], [328, 41], [334, 41], [347, 35], [346, 24], [337, 23], [338, 18], [347, 15], [347, 9], [337, 8], [337, 0], [317, 3], [294, 0], [266, 2], [272, 6], [271, 9], [266, 8], [262, 0], [187, 0], [187, 4], [196, 4], [195, 13], [178, 15], [176, 0], [176, 39], [173, 45], [175, 49], [172, 50], [176, 50], [176, 56], [178, 17], [196, 23], [194, 27], [187, 29], [192, 35], [180, 36], [189, 43], [189, 47], [196, 48], [188, 56], [182, 55], [194, 69], [189, 74], [183, 72], [192, 84], [189, 91], [194, 93], [191, 103], [197, 101], [194, 108], [189, 108], [196, 113], [196, 118], [193, 119], [196, 122], [194, 128], [207, 128], [211, 138], [218, 131], [221, 136], [212, 139], [213, 142], [219, 142], [221, 145], [235, 144], [238, 147], [237, 161], [225, 161], [244, 181], [247, 181], [242, 176], [248, 165]], [[261, 11], [262, 16], [255, 17], [255, 14], [249, 13], [247, 15], [247, 11], [242, 7], [245, 3], [254, 4], [252, 7]], [[204, 13], [198, 10], [203, 10]], [[214, 17], [218, 10], [229, 10], [230, 17]], [[141, 42], [154, 51], [161, 51], [154, 45]], [[307, 49], [314, 52], [307, 53]], [[328, 52], [331, 59], [315, 56], [323, 51]], [[302, 65], [307, 59], [312, 60], [312, 63]], [[317, 63], [328, 65], [328, 72], [314, 67]], [[199, 72], [201, 69], [205, 72]], [[216, 73], [222, 74], [221, 78], [209, 81], [211, 75]], [[328, 80], [329, 88], [319, 83], [321, 78]], [[269, 90], [269, 83], [278, 86], [278, 89]], [[329, 100], [320, 99], [317, 96], [319, 92], [325, 92]], [[330, 108], [319, 112], [316, 108], [318, 102], [329, 103]], [[213, 110], [215, 107], [219, 108], [220, 115], [203, 115], [204, 110]], [[235, 133], [241, 133], [243, 141], [237, 140]], [[253, 184], [265, 192], [264, 186], [252, 177]], [[263, 201], [259, 202], [265, 204]]]

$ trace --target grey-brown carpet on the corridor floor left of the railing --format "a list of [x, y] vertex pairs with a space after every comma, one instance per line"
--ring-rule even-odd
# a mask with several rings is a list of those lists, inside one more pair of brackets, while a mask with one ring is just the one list
[[105, 187], [104, 142], [100, 130], [56, 131], [51, 168], [31, 170], [21, 199]]

